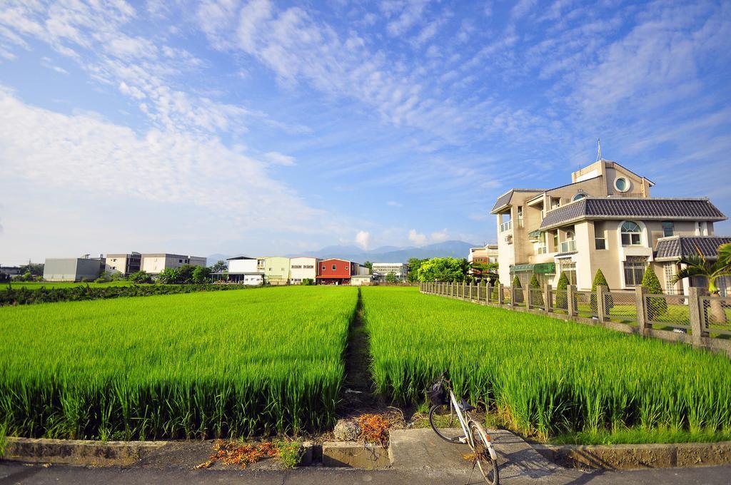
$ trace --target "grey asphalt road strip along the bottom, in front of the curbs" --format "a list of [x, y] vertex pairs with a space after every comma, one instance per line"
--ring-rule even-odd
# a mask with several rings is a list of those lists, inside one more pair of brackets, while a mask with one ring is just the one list
[[[473, 477], [476, 478], [476, 477]], [[548, 478], [548, 477], [546, 477]], [[504, 481], [506, 485], [518, 483], [551, 483], [544, 479], [522, 480], [518, 477]], [[627, 472], [581, 473], [572, 485], [728, 485], [731, 482], [731, 465], [723, 467], [666, 468]], [[472, 480], [472, 483], [479, 483]], [[501, 482], [503, 483], [503, 482]], [[0, 485], [11, 484], [196, 484], [196, 485], [398, 485], [398, 484], [458, 484], [464, 485], [463, 476], [451, 477], [433, 472], [409, 470], [352, 470], [343, 468], [311, 467], [291, 471], [276, 470], [155, 470], [151, 468], [86, 468], [53, 465], [23, 465], [0, 462]]]

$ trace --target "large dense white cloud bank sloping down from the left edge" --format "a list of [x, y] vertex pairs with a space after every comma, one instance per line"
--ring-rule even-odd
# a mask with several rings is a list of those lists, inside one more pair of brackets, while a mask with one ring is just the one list
[[308, 207], [292, 188], [273, 180], [268, 163], [215, 137], [159, 129], [139, 136], [94, 115], [29, 106], [1, 86], [0, 164], [5, 177], [34, 184], [39, 197], [63, 191], [195, 205], [226, 218], [232, 232], [268, 228], [272, 220], [284, 231], [303, 234], [320, 231], [323, 224], [333, 233], [347, 230], [328, 224], [324, 211]]

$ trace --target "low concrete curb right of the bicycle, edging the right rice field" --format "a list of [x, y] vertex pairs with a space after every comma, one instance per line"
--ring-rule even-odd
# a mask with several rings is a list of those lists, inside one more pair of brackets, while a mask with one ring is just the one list
[[731, 464], [731, 441], [636, 445], [534, 445], [561, 465], [601, 470], [698, 467]]

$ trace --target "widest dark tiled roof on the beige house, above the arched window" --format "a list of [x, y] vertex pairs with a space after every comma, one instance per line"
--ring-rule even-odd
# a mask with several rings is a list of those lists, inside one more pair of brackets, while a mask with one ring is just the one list
[[541, 229], [579, 218], [699, 219], [724, 221], [726, 216], [708, 199], [630, 199], [586, 197], [546, 214]]

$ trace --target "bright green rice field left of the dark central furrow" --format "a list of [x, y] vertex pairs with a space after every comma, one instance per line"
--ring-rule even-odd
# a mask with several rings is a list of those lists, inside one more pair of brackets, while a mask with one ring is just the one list
[[0, 434], [170, 439], [333, 424], [352, 287], [0, 308]]

